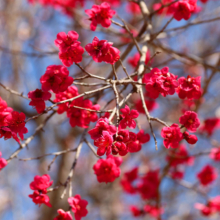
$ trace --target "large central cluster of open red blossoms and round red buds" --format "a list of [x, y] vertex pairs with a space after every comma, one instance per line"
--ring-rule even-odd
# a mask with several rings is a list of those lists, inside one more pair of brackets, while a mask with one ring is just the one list
[[141, 130], [138, 134], [128, 130], [119, 130], [116, 135], [116, 127], [109, 125], [107, 118], [100, 118], [92, 130], [88, 133], [98, 147], [97, 154], [102, 156], [110, 153], [120, 156], [128, 152], [134, 153], [141, 150], [141, 145], [150, 140], [149, 134]]

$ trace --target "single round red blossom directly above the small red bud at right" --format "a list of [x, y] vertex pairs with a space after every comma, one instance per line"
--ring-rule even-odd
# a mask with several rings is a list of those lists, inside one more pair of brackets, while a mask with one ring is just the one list
[[184, 115], [179, 118], [179, 122], [191, 132], [196, 132], [200, 125], [198, 115], [193, 111], [186, 111]]

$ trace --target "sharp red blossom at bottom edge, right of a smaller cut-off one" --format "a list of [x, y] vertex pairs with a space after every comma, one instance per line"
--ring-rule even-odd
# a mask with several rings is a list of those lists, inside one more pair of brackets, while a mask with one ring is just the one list
[[80, 220], [82, 217], [85, 217], [88, 214], [88, 210], [86, 209], [88, 202], [84, 199], [81, 199], [80, 195], [75, 195], [74, 197], [68, 198], [68, 203], [72, 212], [74, 213], [75, 220]]

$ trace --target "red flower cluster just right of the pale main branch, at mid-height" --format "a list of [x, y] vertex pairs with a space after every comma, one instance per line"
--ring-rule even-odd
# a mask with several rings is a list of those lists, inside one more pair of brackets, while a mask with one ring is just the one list
[[159, 94], [166, 97], [173, 95], [178, 87], [177, 77], [169, 72], [168, 67], [163, 69], [153, 68], [150, 73], [144, 75], [143, 82], [146, 83], [146, 90], [149, 97], [156, 99]]

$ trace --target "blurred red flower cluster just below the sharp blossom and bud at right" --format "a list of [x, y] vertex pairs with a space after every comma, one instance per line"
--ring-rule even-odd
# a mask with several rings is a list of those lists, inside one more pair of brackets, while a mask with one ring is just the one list
[[180, 145], [178, 149], [170, 149], [166, 160], [170, 166], [178, 166], [180, 164], [192, 165], [194, 158], [189, 156], [186, 146]]

